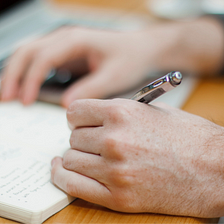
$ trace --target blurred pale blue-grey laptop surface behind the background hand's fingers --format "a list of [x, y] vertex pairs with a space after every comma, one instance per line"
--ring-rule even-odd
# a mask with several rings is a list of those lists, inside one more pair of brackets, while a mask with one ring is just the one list
[[48, 15], [38, 2], [32, 4], [19, 8], [20, 13], [12, 11], [6, 19], [1, 18], [0, 60], [12, 53], [24, 39], [43, 35], [66, 23], [61, 18]]

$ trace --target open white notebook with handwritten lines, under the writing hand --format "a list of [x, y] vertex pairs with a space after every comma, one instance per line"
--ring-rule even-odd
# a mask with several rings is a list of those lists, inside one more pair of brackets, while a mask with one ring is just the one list
[[50, 180], [50, 162], [69, 148], [65, 109], [0, 103], [0, 216], [38, 224], [74, 200]]

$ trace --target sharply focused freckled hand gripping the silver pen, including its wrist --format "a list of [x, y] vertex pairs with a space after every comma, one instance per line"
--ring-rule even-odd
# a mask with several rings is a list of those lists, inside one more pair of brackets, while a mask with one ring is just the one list
[[[158, 107], [159, 106], [159, 107]], [[77, 100], [52, 182], [122, 212], [223, 216], [223, 128], [165, 105]]]

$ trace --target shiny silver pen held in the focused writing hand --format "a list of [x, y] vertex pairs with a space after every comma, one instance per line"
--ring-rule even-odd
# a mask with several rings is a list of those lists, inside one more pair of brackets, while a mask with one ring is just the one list
[[170, 72], [140, 89], [131, 99], [148, 104], [180, 85], [181, 81], [182, 74], [180, 72]]

